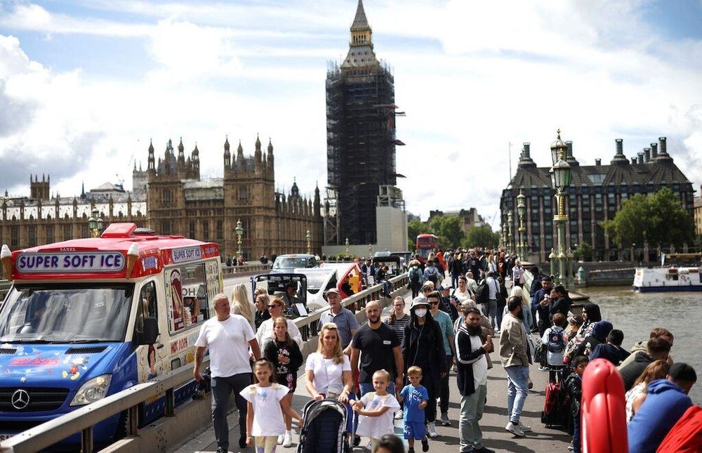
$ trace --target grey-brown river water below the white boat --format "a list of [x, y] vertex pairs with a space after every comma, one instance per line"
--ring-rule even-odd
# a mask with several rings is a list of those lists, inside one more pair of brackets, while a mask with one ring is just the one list
[[702, 403], [701, 293], [640, 294], [631, 287], [587, 287], [579, 291], [600, 306], [603, 320], [624, 332], [622, 346], [627, 350], [636, 341], [647, 340], [654, 327], [673, 332], [675, 341], [670, 355], [675, 362], [694, 367], [698, 380], [690, 390], [690, 398], [696, 404]]

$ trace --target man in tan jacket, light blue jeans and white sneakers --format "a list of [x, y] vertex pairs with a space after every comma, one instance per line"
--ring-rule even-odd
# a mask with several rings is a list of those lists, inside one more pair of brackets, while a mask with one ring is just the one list
[[502, 320], [500, 335], [500, 359], [507, 373], [507, 412], [510, 416], [505, 430], [523, 438], [525, 432], [531, 431], [529, 426], [519, 421], [524, 401], [527, 400], [527, 393], [529, 393], [531, 357], [527, 345], [527, 331], [522, 324], [524, 319], [522, 298], [510, 297], [507, 308], [509, 313]]

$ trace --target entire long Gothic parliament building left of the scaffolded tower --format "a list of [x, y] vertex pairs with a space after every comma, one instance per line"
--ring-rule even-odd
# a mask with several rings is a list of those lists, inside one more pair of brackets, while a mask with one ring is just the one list
[[199, 150], [185, 157], [183, 140], [177, 150], [168, 140], [157, 157], [150, 144], [147, 169], [134, 165], [133, 190], [104, 183], [80, 195], [51, 195], [51, 176], [29, 177], [29, 197], [0, 197], [0, 243], [12, 250], [67, 239], [88, 237], [88, 220], [97, 210], [103, 225], [132, 222], [159, 234], [184, 235], [216, 242], [223, 256], [236, 256], [237, 221], [244, 228], [244, 258], [302, 253], [310, 231], [313, 251], [322, 247], [319, 189], [314, 199], [300, 196], [297, 183], [288, 194], [275, 190], [273, 145], [265, 152], [258, 137], [253, 155], [241, 143], [230, 152], [224, 142], [221, 178], [200, 177]]

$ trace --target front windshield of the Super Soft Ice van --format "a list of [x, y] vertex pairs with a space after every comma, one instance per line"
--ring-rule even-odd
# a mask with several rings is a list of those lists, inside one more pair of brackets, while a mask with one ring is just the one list
[[124, 341], [134, 284], [32, 284], [11, 289], [0, 342]]

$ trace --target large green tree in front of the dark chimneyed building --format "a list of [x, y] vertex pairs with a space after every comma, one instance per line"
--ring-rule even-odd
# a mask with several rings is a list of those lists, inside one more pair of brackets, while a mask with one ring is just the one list
[[604, 230], [623, 247], [649, 242], [658, 244], [691, 244], [694, 221], [680, 199], [668, 188], [651, 195], [637, 194], [622, 203], [613, 219], [602, 222]]

